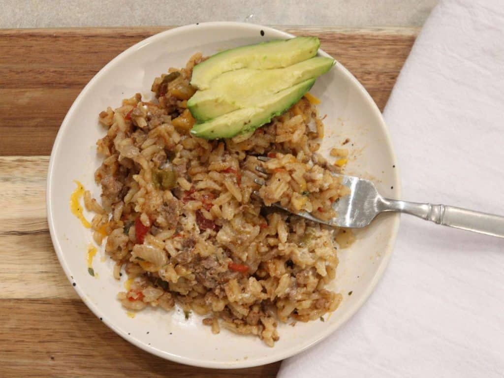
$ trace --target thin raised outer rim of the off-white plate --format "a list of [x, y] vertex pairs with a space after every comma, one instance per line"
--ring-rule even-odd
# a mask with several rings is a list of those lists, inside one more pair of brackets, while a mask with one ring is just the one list
[[[69, 119], [74, 113], [75, 109], [78, 107], [79, 103], [81, 102], [81, 99], [86, 95], [86, 93], [90, 90], [92, 85], [102, 76], [106, 71], [110, 70], [118, 61], [120, 61], [122, 58], [125, 56], [133, 53], [134, 51], [137, 51], [138, 49], [142, 48], [143, 46], [152, 43], [158, 39], [163, 39], [166, 36], [170, 35], [176, 35], [178, 33], [183, 33], [186, 30], [194, 29], [194, 28], [219, 28], [219, 27], [235, 27], [239, 29], [248, 29], [248, 30], [257, 30], [257, 31], [270, 31], [274, 32], [275, 34], [282, 34], [286, 38], [293, 38], [295, 37], [293, 34], [287, 33], [283, 30], [278, 30], [272, 27], [268, 26], [263, 26], [259, 24], [251, 24], [251, 23], [244, 23], [244, 22], [230, 22], [230, 21], [216, 21], [216, 22], [204, 22], [204, 23], [197, 23], [197, 24], [190, 24], [190, 25], [184, 25], [180, 27], [175, 27], [172, 29], [168, 29], [159, 33], [156, 33], [146, 39], [143, 39], [133, 46], [125, 49], [122, 51], [120, 54], [115, 56], [113, 59], [111, 59], [100, 71], [98, 71], [95, 76], [86, 84], [86, 86], [81, 90], [79, 95], [76, 97], [74, 102], [72, 103], [72, 106], [68, 110], [67, 114], [65, 115], [65, 118], [61, 122], [61, 126], [59, 127], [58, 133], [56, 135], [56, 138], [54, 140], [52, 149], [51, 149], [51, 155], [49, 159], [49, 165], [47, 168], [47, 182], [46, 182], [46, 209], [47, 209], [47, 223], [49, 227], [49, 233], [51, 236], [51, 241], [54, 246], [54, 250], [56, 252], [56, 256], [58, 258], [59, 264], [65, 271], [65, 274], [67, 278], [69, 279], [70, 283], [72, 283], [72, 272], [70, 271], [70, 268], [68, 267], [66, 260], [62, 254], [62, 248], [59, 244], [59, 240], [56, 237], [55, 234], [55, 224], [53, 222], [53, 204], [51, 201], [51, 193], [52, 193], [52, 173], [54, 171], [54, 165], [55, 165], [55, 156], [57, 155], [57, 152], [60, 147], [60, 141], [63, 138], [63, 135], [66, 133], [66, 130], [69, 127]], [[319, 54], [323, 56], [328, 56], [332, 57], [322, 49], [319, 49]], [[402, 184], [401, 184], [401, 175], [400, 175], [400, 170], [397, 167], [397, 156], [396, 152], [394, 149], [394, 144], [392, 137], [390, 135], [390, 130], [387, 127], [387, 124], [385, 122], [385, 119], [383, 118], [382, 113], [380, 112], [380, 109], [377, 107], [376, 103], [372, 99], [372, 97], [369, 95], [369, 93], [366, 91], [364, 86], [343, 66], [338, 62], [339, 69], [350, 79], [352, 84], [359, 90], [364, 95], [364, 98], [368, 105], [370, 106], [370, 109], [372, 109], [374, 115], [376, 116], [376, 119], [379, 120], [380, 127], [382, 131], [384, 132], [384, 137], [387, 142], [387, 144], [390, 146], [390, 153], [393, 158], [393, 160], [396, 162], [396, 168], [395, 168], [395, 182], [394, 182], [394, 187], [395, 187], [395, 193], [398, 196], [398, 198], [401, 197], [401, 190], [402, 190]], [[122, 337], [124, 340], [132, 343], [133, 345], [139, 347], [140, 349], [154, 354], [158, 357], [174, 361], [177, 363], [182, 363], [186, 365], [192, 365], [192, 366], [197, 366], [197, 367], [205, 367], [205, 368], [220, 368], [220, 369], [233, 369], [233, 368], [246, 368], [246, 367], [254, 367], [254, 366], [261, 366], [265, 365], [268, 363], [273, 363], [277, 362], [280, 360], [283, 360], [285, 358], [291, 357], [293, 355], [296, 355], [310, 347], [312, 347], [315, 344], [318, 344], [322, 340], [326, 339], [330, 335], [332, 335], [339, 327], [343, 326], [344, 323], [346, 323], [351, 317], [354, 316], [354, 314], [359, 310], [359, 308], [362, 307], [362, 305], [367, 301], [371, 293], [374, 291], [377, 283], [380, 281], [380, 279], [383, 277], [383, 274], [385, 270], [387, 269], [390, 259], [392, 257], [392, 252], [394, 250], [394, 246], [397, 240], [397, 235], [399, 232], [399, 223], [400, 223], [400, 214], [394, 214], [394, 215], [389, 215], [391, 218], [393, 218], [393, 223], [391, 227], [391, 237], [388, 240], [387, 248], [383, 251], [385, 254], [385, 257], [382, 259], [382, 262], [379, 266], [379, 269], [376, 270], [374, 276], [370, 280], [370, 284], [367, 286], [365, 291], [361, 294], [359, 300], [357, 300], [352, 307], [348, 309], [346, 312], [345, 316], [340, 318], [340, 322], [338, 323], [333, 323], [328, 325], [328, 328], [326, 332], [324, 332], [317, 340], [314, 340], [313, 342], [303, 345], [301, 347], [294, 348], [295, 350], [292, 351], [291, 349], [287, 349], [283, 352], [278, 352], [278, 353], [271, 353], [269, 356], [266, 357], [261, 357], [261, 358], [256, 358], [253, 360], [240, 360], [240, 361], [230, 361], [229, 363], [223, 363], [223, 362], [218, 362], [218, 361], [210, 361], [210, 360], [203, 360], [200, 361], [198, 359], [194, 358], [188, 358], [184, 357], [181, 355], [176, 355], [172, 354], [170, 352], [162, 351], [160, 349], [157, 349], [155, 347], [152, 347], [150, 345], [147, 345], [136, 338], [132, 337], [131, 335], [128, 335], [126, 332], [123, 332], [121, 329], [117, 328], [112, 321], [110, 321], [107, 317], [102, 317], [103, 318], [103, 323], [107, 325], [112, 331], [114, 331], [117, 335]], [[94, 304], [91, 301], [85, 300], [86, 294], [84, 291], [81, 289], [80, 285], [73, 286], [81, 300], [86, 304], [86, 306], [97, 316], [100, 318], [99, 314], [99, 309], [96, 304]]]

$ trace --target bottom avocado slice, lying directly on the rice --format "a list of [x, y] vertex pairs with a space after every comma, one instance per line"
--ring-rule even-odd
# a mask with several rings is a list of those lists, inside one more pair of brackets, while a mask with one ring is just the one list
[[233, 138], [254, 131], [294, 105], [315, 83], [308, 79], [290, 88], [270, 95], [254, 107], [238, 109], [203, 123], [197, 123], [191, 134], [205, 139]]

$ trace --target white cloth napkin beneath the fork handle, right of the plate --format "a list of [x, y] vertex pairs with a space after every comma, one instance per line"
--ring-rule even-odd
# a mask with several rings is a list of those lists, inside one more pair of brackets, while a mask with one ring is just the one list
[[[504, 2], [440, 2], [385, 118], [403, 199], [504, 215]], [[407, 215], [366, 304], [328, 339], [285, 360], [278, 374], [502, 376], [504, 239]]]

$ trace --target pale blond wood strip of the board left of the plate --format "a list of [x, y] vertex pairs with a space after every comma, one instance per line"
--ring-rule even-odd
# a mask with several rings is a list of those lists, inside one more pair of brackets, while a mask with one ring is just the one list
[[79, 298], [58, 263], [49, 236], [45, 211], [48, 163], [47, 156], [0, 157], [0, 299]]

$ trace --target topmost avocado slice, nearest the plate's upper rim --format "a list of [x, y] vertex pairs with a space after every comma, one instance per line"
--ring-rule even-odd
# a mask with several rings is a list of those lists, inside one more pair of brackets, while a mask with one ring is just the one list
[[291, 66], [317, 55], [319, 46], [319, 38], [296, 37], [222, 51], [194, 67], [191, 85], [205, 90], [210, 88], [213, 79], [224, 72], [242, 68], [269, 70]]

